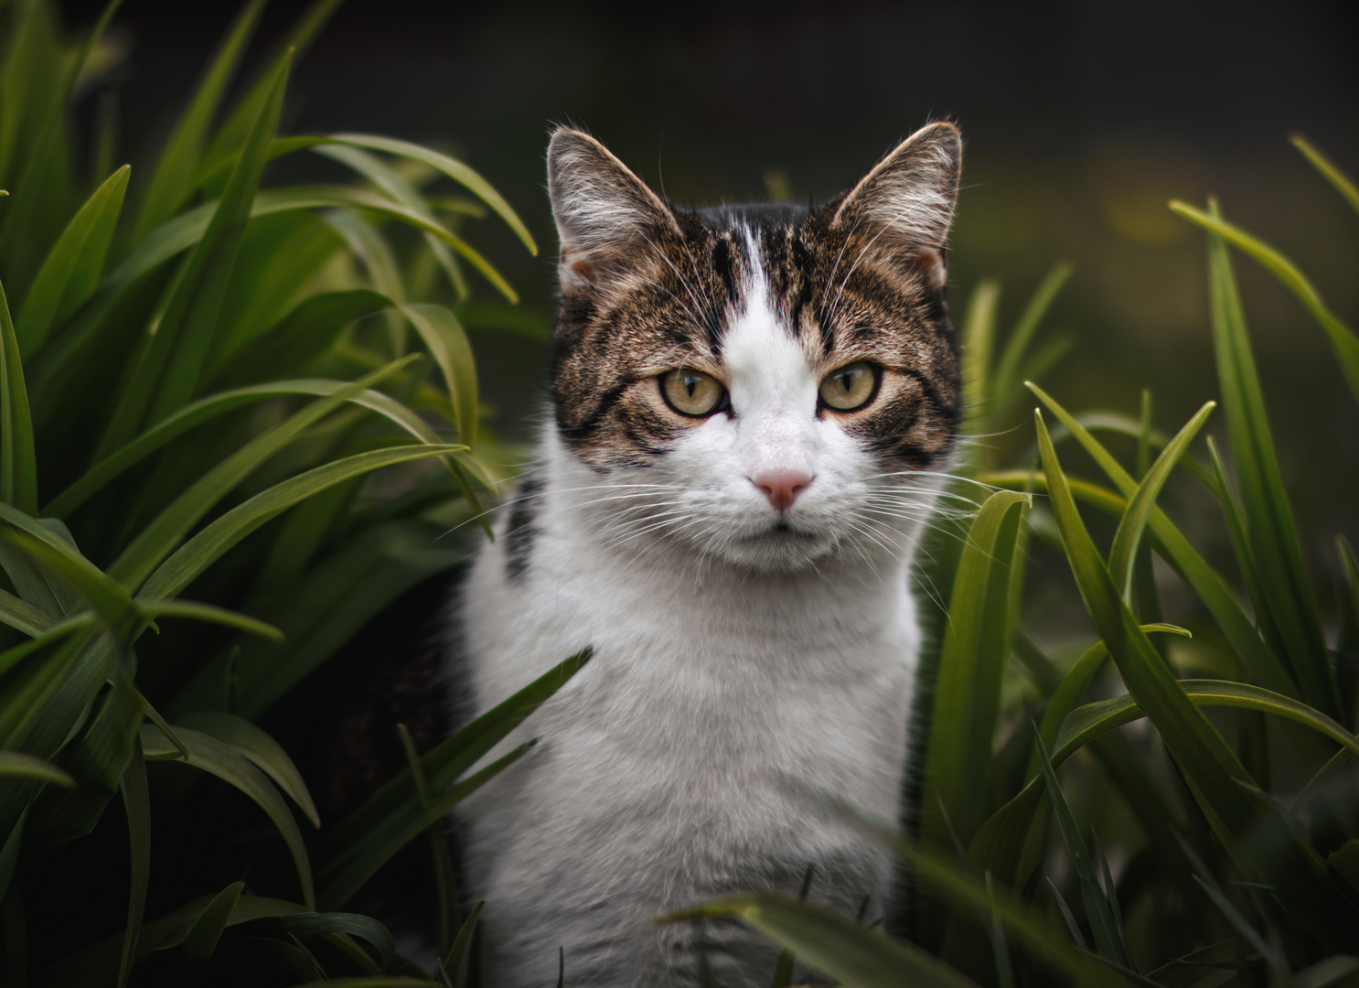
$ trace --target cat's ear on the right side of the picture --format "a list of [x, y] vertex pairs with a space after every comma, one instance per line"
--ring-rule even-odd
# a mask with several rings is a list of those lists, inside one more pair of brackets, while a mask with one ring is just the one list
[[947, 121], [906, 137], [840, 204], [833, 227], [871, 230], [875, 246], [945, 281], [945, 246], [958, 200], [962, 137]]

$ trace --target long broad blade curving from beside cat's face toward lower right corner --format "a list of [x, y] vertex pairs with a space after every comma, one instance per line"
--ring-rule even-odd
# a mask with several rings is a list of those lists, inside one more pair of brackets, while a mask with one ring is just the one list
[[[1335, 886], [1317, 852], [1292, 834], [1222, 735], [1193, 705], [1123, 602], [1076, 512], [1052, 439], [1034, 413], [1042, 465], [1071, 569], [1128, 692], [1185, 773], [1199, 806], [1238, 866], [1275, 893], [1332, 949], [1359, 939], [1359, 909]], [[1267, 844], [1260, 843], [1268, 834]]]

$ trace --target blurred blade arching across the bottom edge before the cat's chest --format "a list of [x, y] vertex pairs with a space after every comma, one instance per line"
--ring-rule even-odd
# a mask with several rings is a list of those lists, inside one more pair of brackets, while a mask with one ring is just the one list
[[809, 965], [845, 988], [976, 988], [976, 981], [913, 943], [893, 940], [848, 916], [791, 896], [727, 896], [662, 916], [659, 923], [738, 919], [791, 947]]

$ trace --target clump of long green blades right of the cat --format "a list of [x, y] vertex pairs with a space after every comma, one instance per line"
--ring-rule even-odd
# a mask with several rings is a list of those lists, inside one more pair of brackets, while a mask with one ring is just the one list
[[[1359, 208], [1354, 183], [1303, 139], [1294, 143]], [[1216, 202], [1170, 209], [1207, 232], [1220, 412], [1205, 402], [1167, 436], [1154, 428], [1150, 395], [1139, 414], [1074, 414], [1031, 383], [1065, 345], [1031, 347], [1065, 265], [1038, 287], [999, 356], [995, 284], [977, 289], [964, 321], [968, 431], [993, 435], [1031, 394], [1036, 443], [1011, 469], [978, 444], [955, 493], [1008, 489], [932, 546], [928, 583], [951, 595], [925, 660], [936, 682], [919, 833], [859, 821], [915, 872], [913, 942], [764, 894], [667, 919], [743, 920], [853, 988], [1359, 983], [1359, 565], [1337, 537], [1343, 578], [1328, 606], [1305, 565], [1231, 247], [1316, 319], [1356, 400], [1359, 336]], [[1226, 427], [1226, 455], [1212, 438], [1205, 455], [1190, 455], [1212, 417]], [[1118, 440], [1127, 459], [1110, 451]], [[1101, 478], [1063, 469], [1059, 447], [1072, 443]], [[1231, 578], [1157, 506], [1174, 473], [1218, 504]], [[1091, 515], [1113, 522], [1104, 548]], [[1098, 639], [1074, 662], [1044, 654], [1023, 631], [1031, 533], [1065, 557]], [[1193, 632], [1211, 643], [1199, 655], [1163, 644], [1190, 629], [1162, 621], [1152, 554], [1195, 598]], [[1324, 613], [1339, 625], [1333, 644]], [[1189, 678], [1195, 662], [1216, 678]], [[1089, 699], [1108, 663], [1113, 696]], [[1003, 685], [1015, 677], [1022, 689], [1007, 707]], [[1148, 730], [1116, 730], [1132, 723]], [[1068, 802], [1059, 773], [1068, 761], [1079, 764], [1086, 802], [1112, 811], [1082, 814]], [[829, 811], [858, 819], [852, 807]], [[1082, 825], [1082, 815], [1102, 824]], [[1117, 882], [1106, 845], [1121, 852]]]

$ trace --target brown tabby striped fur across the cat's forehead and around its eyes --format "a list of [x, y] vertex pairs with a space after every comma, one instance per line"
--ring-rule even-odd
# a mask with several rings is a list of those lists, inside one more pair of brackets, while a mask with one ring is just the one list
[[758, 294], [819, 371], [868, 360], [892, 372], [881, 408], [851, 432], [889, 461], [943, 455], [959, 401], [943, 287], [881, 227], [834, 224], [836, 207], [671, 209], [674, 226], [637, 242], [625, 275], [564, 288], [553, 364], [563, 438], [598, 467], [663, 455], [693, 425], [644, 389], [685, 366], [722, 379], [723, 336]]

